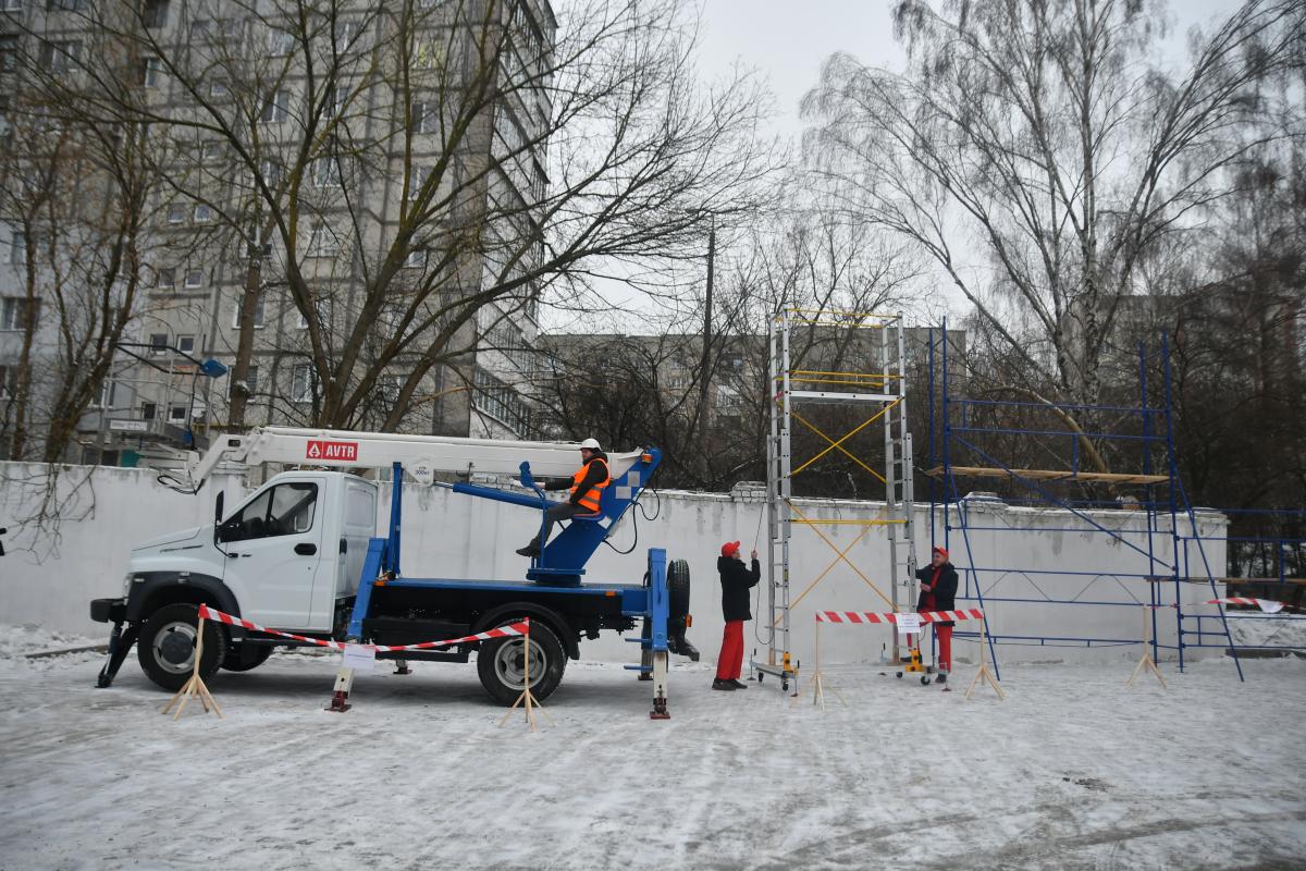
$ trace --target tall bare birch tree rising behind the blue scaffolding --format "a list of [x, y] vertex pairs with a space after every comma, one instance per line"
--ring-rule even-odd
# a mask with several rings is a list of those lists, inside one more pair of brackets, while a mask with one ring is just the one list
[[1242, 133], [1301, 4], [1250, 0], [1194, 34], [1178, 76], [1155, 63], [1156, 3], [936, 7], [893, 8], [905, 73], [827, 61], [807, 145], [850, 214], [918, 245], [976, 307], [1019, 362], [1011, 383], [1096, 402], [1119, 300], [1255, 148]]

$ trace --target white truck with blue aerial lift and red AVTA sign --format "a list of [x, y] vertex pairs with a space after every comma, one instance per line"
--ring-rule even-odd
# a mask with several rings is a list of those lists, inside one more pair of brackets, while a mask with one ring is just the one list
[[[210, 525], [184, 529], [132, 550], [123, 594], [94, 599], [91, 619], [112, 623], [108, 661], [98, 686], [108, 687], [137, 645], [145, 674], [165, 689], [179, 688], [195, 666], [197, 607], [204, 603], [269, 629], [307, 637], [404, 645], [457, 639], [530, 618], [532, 692], [547, 697], [568, 658], [579, 658], [581, 636], [640, 626], [641, 662], [627, 669], [650, 679], [654, 718], [666, 717], [669, 653], [697, 659], [684, 639], [690, 577], [684, 560], [649, 548], [640, 584], [581, 582], [585, 563], [639, 499], [661, 461], [656, 448], [607, 456], [611, 484], [599, 511], [577, 516], [532, 560], [524, 581], [413, 577], [401, 569], [405, 473], [418, 484], [439, 484], [474, 498], [534, 509], [542, 522], [551, 504], [535, 477], [569, 477], [581, 464], [579, 445], [500, 441], [381, 432], [261, 427], [225, 435], [201, 457], [189, 453], [159, 481], [197, 494], [219, 462], [285, 464], [282, 471], [223, 515], [223, 494]], [[389, 524], [377, 533], [379, 488], [357, 474], [390, 469]], [[436, 474], [512, 474], [530, 492], [499, 490]], [[452, 473], [452, 474], [449, 474]], [[440, 517], [422, 522], [439, 524]], [[248, 671], [276, 646], [296, 646], [276, 636], [206, 622], [200, 674], [221, 666]], [[400, 659], [468, 662], [486, 691], [511, 704], [525, 686], [525, 644], [520, 637], [461, 644], [440, 650], [379, 653]]]

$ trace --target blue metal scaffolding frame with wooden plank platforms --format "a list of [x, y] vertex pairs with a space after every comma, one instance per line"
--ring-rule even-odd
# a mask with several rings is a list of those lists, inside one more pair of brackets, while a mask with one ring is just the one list
[[[942, 358], [942, 376], [936, 375], [936, 355]], [[1162, 402], [1157, 406], [1149, 405], [1155, 401], [1148, 393], [1148, 363], [1158, 363], [1162, 377], [1162, 390], [1158, 397]], [[943, 513], [943, 529], [942, 539], [943, 547], [952, 550], [949, 543], [952, 533], [960, 534], [961, 545], [964, 550], [964, 565], [957, 565], [957, 569], [963, 573], [964, 586], [961, 594], [957, 597], [963, 601], [976, 602], [981, 609], [985, 607], [986, 602], [1023, 602], [1023, 603], [1041, 603], [1051, 606], [1071, 606], [1071, 605], [1092, 605], [1098, 607], [1139, 607], [1143, 605], [1151, 606], [1151, 645], [1152, 645], [1152, 658], [1157, 659], [1160, 650], [1174, 650], [1178, 657], [1179, 670], [1185, 670], [1185, 650], [1188, 648], [1217, 648], [1225, 646], [1233, 654], [1232, 659], [1238, 671], [1238, 679], [1243, 680], [1242, 663], [1238, 657], [1238, 648], [1258, 648], [1258, 649], [1289, 649], [1290, 645], [1282, 645], [1276, 648], [1273, 645], [1239, 645], [1234, 642], [1233, 632], [1230, 629], [1230, 619], [1249, 619], [1251, 615], [1245, 612], [1226, 612], [1224, 605], [1215, 606], [1218, 609], [1217, 614], [1202, 614], [1196, 611], [1186, 611], [1183, 603], [1182, 589], [1185, 584], [1191, 582], [1205, 582], [1209, 585], [1212, 598], [1221, 598], [1221, 592], [1217, 589], [1217, 575], [1212, 571], [1211, 562], [1207, 556], [1205, 547], [1203, 542], [1213, 541], [1212, 537], [1202, 535], [1198, 526], [1198, 516], [1194, 511], [1187, 492], [1185, 491], [1183, 482], [1179, 478], [1177, 452], [1175, 452], [1175, 431], [1174, 431], [1174, 415], [1173, 415], [1173, 401], [1170, 393], [1170, 354], [1169, 343], [1165, 336], [1161, 338], [1161, 347], [1157, 351], [1157, 356], [1149, 356], [1145, 347], [1139, 346], [1139, 404], [1136, 406], [1122, 406], [1122, 405], [1074, 405], [1074, 404], [1042, 404], [1042, 402], [1028, 402], [1028, 401], [1004, 401], [1004, 400], [972, 400], [965, 397], [956, 397], [952, 394], [952, 385], [949, 384], [949, 368], [948, 368], [948, 332], [947, 321], [943, 321], [942, 328], [931, 328], [927, 341], [927, 370], [929, 370], [929, 474], [930, 474], [930, 545], [934, 546], [939, 538], [939, 530], [936, 529], [936, 521], [939, 518], [939, 509], [942, 507]], [[1109, 432], [1109, 431], [1093, 431], [1093, 432], [1075, 432], [1072, 430], [1062, 428], [1021, 428], [1021, 427], [1002, 427], [1002, 426], [972, 426], [972, 410], [977, 407], [994, 407], [994, 409], [1016, 409], [1016, 407], [1032, 407], [1046, 411], [1088, 411], [1088, 413], [1110, 413], [1113, 415], [1122, 415], [1126, 419], [1132, 418], [1134, 420], [1141, 422], [1141, 434], [1134, 432]], [[1034, 439], [1049, 439], [1049, 437], [1068, 437], [1071, 440], [1070, 449], [1070, 465], [1064, 474], [1055, 473], [1041, 473], [1038, 470], [1028, 469], [1015, 469], [1008, 464], [1004, 464], [1000, 458], [993, 456], [991, 452], [985, 451], [981, 445], [976, 444], [976, 439], [972, 436], [980, 435], [1000, 435], [1000, 436], [1016, 436], [1016, 437], [1034, 437]], [[1121, 441], [1126, 444], [1138, 445], [1141, 449], [1143, 457], [1143, 470], [1140, 474], [1124, 474], [1124, 475], [1097, 475], [1094, 473], [1084, 473], [1080, 469], [1080, 439], [1091, 437], [1094, 440], [1106, 441]], [[1164, 471], [1153, 469], [1153, 453], [1164, 452]], [[972, 456], [982, 462], [981, 467], [974, 466], [959, 466], [956, 464], [956, 456]], [[959, 475], [959, 469], [961, 473]], [[968, 500], [961, 496], [957, 487], [957, 478], [965, 477], [966, 474], [985, 474], [989, 477], [1000, 477], [1010, 482], [1013, 482], [1023, 487], [1024, 490], [1033, 494], [1028, 500], [1028, 504], [1045, 508], [1060, 508], [1071, 513], [1071, 516], [1083, 521], [1081, 526], [1068, 525], [1064, 528], [1057, 528], [1055, 530], [1049, 528], [1033, 528], [1033, 526], [978, 526], [972, 521], [970, 512], [972, 507]], [[1139, 516], [1139, 512], [1144, 512], [1145, 524], [1143, 529], [1126, 529], [1122, 525], [1118, 529], [1111, 529], [1105, 525], [1100, 518], [1096, 518], [1087, 513], [1088, 509], [1093, 507], [1113, 505], [1118, 507], [1115, 501], [1102, 501], [1102, 500], [1071, 500], [1057, 495], [1051, 488], [1045, 486], [1049, 479], [1057, 481], [1113, 481], [1119, 484], [1136, 484], [1141, 486], [1143, 494], [1141, 499], [1136, 503], [1138, 511], [1131, 511], [1126, 515], [1130, 520]], [[942, 490], [942, 492], [940, 492]], [[1247, 513], [1247, 509], [1239, 509], [1242, 513]], [[1266, 512], [1275, 513], [1275, 512]], [[1188, 533], [1181, 531], [1181, 518], [1187, 521]], [[1121, 572], [1077, 572], [1077, 571], [1046, 571], [1046, 569], [1033, 569], [1033, 568], [1017, 568], [1011, 565], [977, 565], [974, 562], [974, 548], [972, 547], [972, 533], [976, 531], [1019, 531], [1019, 530], [1038, 530], [1038, 531], [1074, 531], [1080, 534], [1091, 535], [1107, 535], [1110, 539], [1124, 548], [1136, 552], [1140, 559], [1147, 559], [1148, 571], [1147, 573], [1121, 573]], [[1141, 539], [1145, 535], [1145, 542], [1131, 541]], [[1165, 554], [1158, 548], [1158, 543], [1164, 539], [1169, 539], [1169, 560]], [[1224, 541], [1229, 541], [1225, 538]], [[1275, 539], [1280, 547], [1279, 559], [1279, 580], [1285, 584], [1285, 559], [1282, 554], [1286, 550], [1285, 542], [1299, 543], [1298, 539]], [[1008, 576], [1021, 576], [1034, 586], [1040, 593], [1041, 598], [1029, 597], [995, 597], [985, 595], [983, 585], [981, 584], [981, 573], [986, 576], [995, 576], [993, 586], [996, 586], [1003, 578]], [[1038, 588], [1037, 582], [1033, 580], [1034, 576], [1049, 575], [1058, 577], [1089, 577], [1091, 580], [1085, 585], [1092, 585], [1100, 578], [1114, 578], [1122, 581], [1124, 578], [1141, 580], [1147, 582], [1148, 588], [1148, 601], [1143, 602], [1136, 598], [1130, 597], [1130, 599], [1121, 601], [1106, 601], [1106, 599], [1085, 599], [1080, 595], [1062, 595], [1054, 597], [1049, 595]], [[1221, 578], [1224, 580], [1224, 578]], [[990, 586], [990, 592], [993, 592]], [[1123, 584], [1122, 584], [1123, 588]], [[1164, 595], [1164, 589], [1171, 592], [1170, 601], [1162, 601], [1166, 598]], [[1080, 592], [1083, 594], [1083, 590]], [[1160, 609], [1173, 610], [1175, 615], [1175, 642], [1162, 644], [1157, 635], [1157, 622]], [[1191, 603], [1188, 606], [1192, 607]], [[1268, 615], [1256, 615], [1252, 619], [1266, 619]], [[1277, 615], [1276, 615], [1277, 616]], [[1281, 619], [1286, 620], [1302, 620], [1303, 616], [1284, 615]], [[1218, 620], [1218, 629], [1212, 627], [1211, 620]], [[1186, 626], [1187, 623], [1187, 626]], [[1191, 626], [1191, 628], [1190, 628]], [[1209, 628], [1208, 628], [1209, 627]], [[989, 652], [993, 654], [994, 669], [998, 669], [996, 645], [1003, 644], [1021, 644], [1021, 645], [1041, 645], [1041, 646], [1117, 646], [1117, 645], [1132, 645], [1144, 644], [1147, 640], [1141, 637], [1096, 637], [1089, 635], [1083, 636], [1050, 636], [1050, 635], [1007, 635], [1007, 633], [994, 633], [990, 631], [989, 614], [985, 611], [985, 629], [987, 635]], [[978, 632], [957, 632], [959, 637], [978, 637]], [[1217, 641], [1218, 639], [1218, 641]], [[1000, 679], [1000, 671], [998, 673]]]

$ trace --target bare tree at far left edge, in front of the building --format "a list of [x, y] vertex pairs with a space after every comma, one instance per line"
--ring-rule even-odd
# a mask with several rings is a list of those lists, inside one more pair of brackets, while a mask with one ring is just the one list
[[52, 86], [76, 71], [69, 43], [27, 48], [0, 73], [12, 94], [0, 221], [21, 290], [10, 298], [21, 347], [0, 431], [9, 458], [60, 462], [141, 312], [161, 175], [148, 131], [90, 123], [65, 84]]

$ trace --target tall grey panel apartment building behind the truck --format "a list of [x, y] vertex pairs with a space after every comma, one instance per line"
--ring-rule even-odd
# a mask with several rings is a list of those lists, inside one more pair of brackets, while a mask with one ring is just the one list
[[88, 103], [132, 103], [157, 174], [132, 326], [68, 458], [263, 423], [524, 434], [547, 0], [3, 3], [0, 67], [86, 89], [112, 71], [123, 93]]

